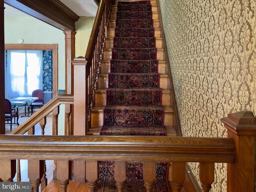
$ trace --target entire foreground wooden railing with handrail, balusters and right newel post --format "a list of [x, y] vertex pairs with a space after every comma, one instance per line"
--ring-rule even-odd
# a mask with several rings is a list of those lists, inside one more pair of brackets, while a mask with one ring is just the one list
[[[36, 114], [36, 113], [35, 113]], [[172, 191], [180, 192], [186, 162], [199, 162], [203, 192], [214, 182], [214, 163], [228, 164], [227, 191], [254, 191], [256, 119], [242, 111], [222, 118], [230, 138], [187, 138], [170, 136], [34, 136], [0, 135], [0, 179], [12, 181], [16, 162], [28, 159], [28, 176], [34, 191], [42, 183], [45, 163], [58, 162], [56, 177], [66, 192], [71, 176], [70, 160], [86, 161], [86, 181], [93, 192], [98, 179], [98, 160], [115, 162], [118, 192], [125, 184], [125, 161], [144, 162], [144, 184], [151, 191], [157, 161], [172, 162]], [[198, 150], [200, 149], [200, 150]]]

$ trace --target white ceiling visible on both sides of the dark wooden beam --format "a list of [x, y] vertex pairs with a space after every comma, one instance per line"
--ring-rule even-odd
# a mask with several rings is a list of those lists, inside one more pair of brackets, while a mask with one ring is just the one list
[[[94, 0], [60, 0], [79, 17], [95, 17], [98, 6]], [[28, 16], [16, 8], [4, 4], [4, 16]]]

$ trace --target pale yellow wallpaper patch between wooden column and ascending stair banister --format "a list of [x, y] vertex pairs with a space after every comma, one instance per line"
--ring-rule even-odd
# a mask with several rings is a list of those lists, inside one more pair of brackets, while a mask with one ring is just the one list
[[85, 56], [94, 19], [94, 17], [80, 17], [76, 22], [75, 57]]

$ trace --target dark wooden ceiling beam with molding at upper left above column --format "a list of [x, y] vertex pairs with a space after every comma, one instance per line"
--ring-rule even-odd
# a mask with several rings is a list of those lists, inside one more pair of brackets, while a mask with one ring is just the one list
[[60, 30], [75, 30], [79, 16], [61, 1], [53, 0], [4, 0], [4, 3], [21, 10]]

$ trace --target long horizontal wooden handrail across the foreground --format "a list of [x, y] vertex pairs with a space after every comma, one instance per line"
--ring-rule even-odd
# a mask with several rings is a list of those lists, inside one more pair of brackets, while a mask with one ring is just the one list
[[1, 159], [232, 163], [234, 150], [232, 138], [0, 135]]

